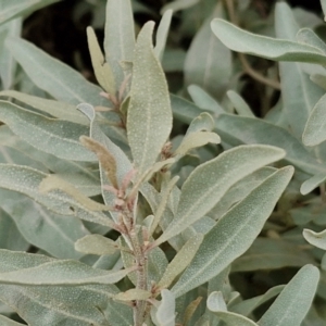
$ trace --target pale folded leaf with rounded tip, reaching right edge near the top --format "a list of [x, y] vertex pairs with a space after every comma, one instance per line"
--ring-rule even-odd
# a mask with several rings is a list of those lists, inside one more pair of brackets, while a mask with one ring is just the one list
[[317, 48], [290, 40], [255, 35], [215, 18], [213, 33], [229, 49], [276, 61], [298, 61], [326, 64], [326, 55]]

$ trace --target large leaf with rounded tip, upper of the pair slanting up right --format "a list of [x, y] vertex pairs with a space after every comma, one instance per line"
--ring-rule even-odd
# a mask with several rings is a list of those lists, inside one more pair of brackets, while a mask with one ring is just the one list
[[239, 146], [198, 166], [184, 184], [175, 220], [158, 243], [199, 221], [241, 178], [284, 155], [283, 150], [274, 147]]

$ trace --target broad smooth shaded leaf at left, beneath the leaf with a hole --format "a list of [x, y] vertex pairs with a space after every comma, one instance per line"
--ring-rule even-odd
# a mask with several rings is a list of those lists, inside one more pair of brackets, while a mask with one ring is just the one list
[[[75, 251], [74, 242], [88, 231], [79, 218], [58, 215], [21, 193], [1, 189], [0, 195], [1, 208], [11, 215], [28, 242], [59, 259], [82, 258]], [[8, 233], [8, 228], [3, 231]], [[20, 243], [18, 239], [18, 236], [12, 238], [16, 246]], [[8, 249], [16, 250], [14, 247]]]

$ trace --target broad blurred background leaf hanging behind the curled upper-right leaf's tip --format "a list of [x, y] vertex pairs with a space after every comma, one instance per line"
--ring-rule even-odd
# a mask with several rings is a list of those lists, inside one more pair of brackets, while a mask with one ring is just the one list
[[[223, 17], [222, 3], [217, 3], [191, 41], [185, 61], [185, 84], [196, 84], [215, 98], [222, 98], [233, 73], [231, 52], [212, 33], [212, 17]], [[204, 49], [204, 50], [203, 50]]]

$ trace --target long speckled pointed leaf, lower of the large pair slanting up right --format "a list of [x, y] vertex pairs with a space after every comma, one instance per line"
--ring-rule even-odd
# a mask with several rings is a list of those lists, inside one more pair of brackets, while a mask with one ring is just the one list
[[275, 172], [217, 222], [172, 288], [176, 297], [210, 280], [246, 252], [273, 212], [292, 174], [291, 166]]

